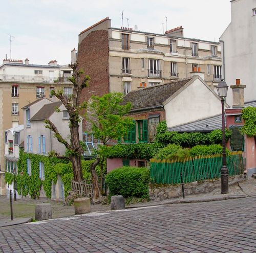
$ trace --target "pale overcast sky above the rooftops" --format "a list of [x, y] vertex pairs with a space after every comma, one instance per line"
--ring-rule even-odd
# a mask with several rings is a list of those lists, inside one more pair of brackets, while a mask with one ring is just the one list
[[7, 54], [12, 59], [28, 58], [31, 64], [71, 61], [78, 34], [109, 16], [112, 27], [163, 33], [183, 26], [184, 36], [210, 41], [219, 37], [230, 22], [229, 0], [0, 0], [0, 64]]

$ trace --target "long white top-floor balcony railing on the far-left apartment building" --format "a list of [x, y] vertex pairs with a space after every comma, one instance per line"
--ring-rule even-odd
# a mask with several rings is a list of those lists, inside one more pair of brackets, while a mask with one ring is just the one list
[[[65, 74], [67, 75], [67, 74]], [[28, 83], [55, 83], [70, 82], [69, 76], [45, 77], [45, 76], [22, 76], [22, 75], [0, 75], [0, 82], [28, 82]]]

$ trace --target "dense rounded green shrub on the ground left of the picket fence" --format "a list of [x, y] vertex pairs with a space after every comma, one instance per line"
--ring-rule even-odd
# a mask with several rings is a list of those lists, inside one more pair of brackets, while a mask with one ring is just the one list
[[111, 195], [148, 198], [150, 171], [147, 168], [121, 167], [106, 175]]

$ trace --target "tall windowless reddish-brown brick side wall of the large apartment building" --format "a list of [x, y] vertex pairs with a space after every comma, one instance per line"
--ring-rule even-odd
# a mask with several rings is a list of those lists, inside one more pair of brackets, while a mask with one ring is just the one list
[[[79, 44], [79, 68], [90, 76], [90, 85], [82, 90], [81, 101], [88, 101], [92, 95], [109, 93], [109, 34], [107, 30], [92, 31]], [[83, 131], [86, 122], [83, 122]]]

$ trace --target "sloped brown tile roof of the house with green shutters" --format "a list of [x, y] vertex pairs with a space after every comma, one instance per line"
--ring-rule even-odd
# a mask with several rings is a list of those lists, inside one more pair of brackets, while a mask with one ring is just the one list
[[193, 77], [172, 81], [152, 87], [133, 90], [123, 98], [123, 104], [132, 103], [132, 111], [147, 108], [161, 107], [163, 102], [174, 95], [180, 88], [187, 84]]

